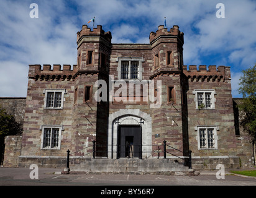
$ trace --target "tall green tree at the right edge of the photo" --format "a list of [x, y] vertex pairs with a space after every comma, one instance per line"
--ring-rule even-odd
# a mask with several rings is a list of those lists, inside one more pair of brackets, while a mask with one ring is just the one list
[[243, 76], [240, 77], [239, 93], [242, 93], [243, 100], [238, 107], [244, 115], [240, 124], [244, 127], [244, 131], [248, 132], [252, 137], [252, 145], [254, 150], [255, 165], [255, 144], [256, 144], [256, 64], [247, 70], [243, 70]]

